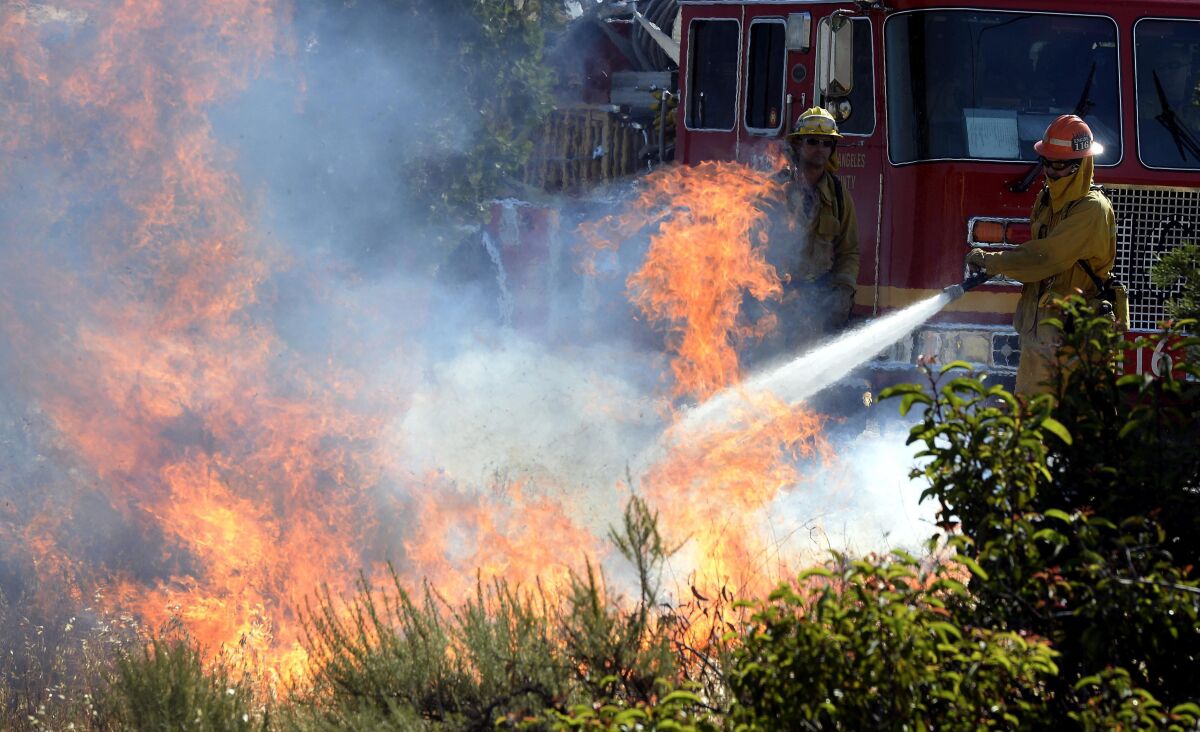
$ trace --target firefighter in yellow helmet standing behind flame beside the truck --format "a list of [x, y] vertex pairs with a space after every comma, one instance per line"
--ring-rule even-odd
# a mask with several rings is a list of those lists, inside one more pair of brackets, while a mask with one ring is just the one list
[[854, 202], [838, 169], [838, 122], [821, 107], [799, 116], [787, 136], [791, 164], [780, 172], [784, 226], [769, 252], [784, 280], [779, 328], [794, 352], [846, 326], [858, 281]]

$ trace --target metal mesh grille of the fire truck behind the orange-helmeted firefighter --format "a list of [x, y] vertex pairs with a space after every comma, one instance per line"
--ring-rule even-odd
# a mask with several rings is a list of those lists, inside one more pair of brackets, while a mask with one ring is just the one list
[[1154, 330], [1166, 318], [1165, 301], [1181, 290], [1151, 284], [1150, 269], [1162, 256], [1196, 239], [1200, 188], [1108, 184], [1104, 192], [1117, 217], [1114, 274], [1129, 288], [1129, 326]]

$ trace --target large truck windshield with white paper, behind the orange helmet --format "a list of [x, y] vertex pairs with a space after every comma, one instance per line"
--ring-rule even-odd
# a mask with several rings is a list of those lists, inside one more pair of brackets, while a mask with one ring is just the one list
[[1116, 24], [1097, 16], [934, 10], [888, 19], [888, 154], [1034, 161], [1061, 114], [1080, 114], [1121, 160]]

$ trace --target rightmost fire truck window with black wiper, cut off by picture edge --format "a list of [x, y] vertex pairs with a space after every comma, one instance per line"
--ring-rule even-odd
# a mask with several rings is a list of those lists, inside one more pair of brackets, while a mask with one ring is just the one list
[[1200, 22], [1134, 28], [1138, 155], [1150, 168], [1200, 168]]

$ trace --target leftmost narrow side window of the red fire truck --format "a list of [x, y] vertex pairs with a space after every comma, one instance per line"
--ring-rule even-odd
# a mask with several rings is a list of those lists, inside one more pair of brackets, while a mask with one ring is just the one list
[[695, 20], [688, 65], [688, 127], [732, 130], [737, 115], [737, 20]]

